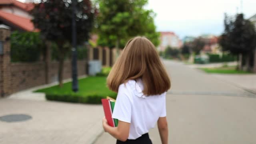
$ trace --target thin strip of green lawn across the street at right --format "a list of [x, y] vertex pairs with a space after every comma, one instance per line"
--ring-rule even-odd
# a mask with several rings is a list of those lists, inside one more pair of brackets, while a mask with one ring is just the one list
[[250, 74], [251, 72], [245, 72], [242, 70], [236, 70], [236, 66], [220, 67], [220, 68], [199, 68], [206, 73], [216, 74]]

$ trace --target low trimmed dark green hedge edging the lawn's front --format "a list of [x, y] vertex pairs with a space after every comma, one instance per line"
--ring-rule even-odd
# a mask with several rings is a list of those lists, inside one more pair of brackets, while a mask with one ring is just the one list
[[[116, 99], [116, 94], [113, 94], [112, 98]], [[59, 95], [59, 94], [46, 94], [47, 100], [61, 101], [61, 102], [73, 102], [82, 104], [101, 104], [101, 99], [106, 96], [90, 95], [90, 96], [79, 96], [79, 95]]]

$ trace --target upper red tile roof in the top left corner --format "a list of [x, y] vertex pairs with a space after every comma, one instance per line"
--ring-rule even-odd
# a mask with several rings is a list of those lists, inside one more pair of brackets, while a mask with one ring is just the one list
[[34, 8], [33, 3], [23, 3], [19, 2], [17, 0], [0, 0], [0, 5], [14, 5], [18, 8], [21, 8], [22, 10], [30, 11]]

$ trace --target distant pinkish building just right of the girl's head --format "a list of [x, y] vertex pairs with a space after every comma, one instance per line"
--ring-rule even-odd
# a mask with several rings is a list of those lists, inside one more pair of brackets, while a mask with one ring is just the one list
[[160, 32], [158, 51], [164, 51], [167, 46], [180, 48], [182, 46], [182, 41], [174, 32]]

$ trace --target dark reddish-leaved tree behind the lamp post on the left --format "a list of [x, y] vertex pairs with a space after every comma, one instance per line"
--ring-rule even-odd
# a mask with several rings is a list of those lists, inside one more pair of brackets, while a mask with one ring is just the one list
[[[95, 8], [92, 7], [90, 0], [77, 0], [75, 4], [77, 42], [81, 44], [89, 38]], [[32, 10], [34, 17], [32, 22], [40, 29], [42, 38], [57, 44], [60, 86], [62, 86], [64, 58], [70, 52], [72, 40], [72, 14], [71, 0], [43, 0]]]

